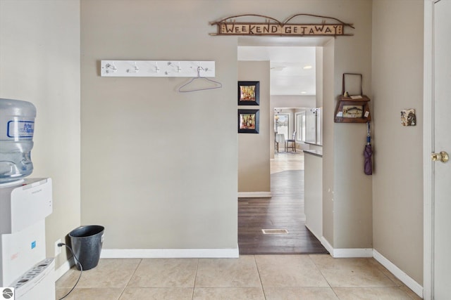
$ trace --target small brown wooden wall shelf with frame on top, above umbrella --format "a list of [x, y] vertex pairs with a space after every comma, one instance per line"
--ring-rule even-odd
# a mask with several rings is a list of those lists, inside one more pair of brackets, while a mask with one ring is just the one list
[[[345, 86], [346, 75], [359, 78], [360, 93], [350, 96]], [[366, 123], [371, 121], [370, 99], [362, 91], [362, 74], [343, 73], [342, 94], [335, 108], [335, 123]]]

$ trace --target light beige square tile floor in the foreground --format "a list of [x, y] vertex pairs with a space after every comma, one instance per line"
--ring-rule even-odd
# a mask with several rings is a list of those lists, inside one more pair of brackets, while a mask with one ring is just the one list
[[[78, 279], [56, 282], [56, 299]], [[66, 299], [421, 299], [375, 259], [245, 255], [239, 259], [101, 259]]]

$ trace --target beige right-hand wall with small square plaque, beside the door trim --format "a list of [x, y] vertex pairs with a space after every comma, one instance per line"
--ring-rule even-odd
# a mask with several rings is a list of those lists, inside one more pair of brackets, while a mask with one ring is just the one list
[[[423, 282], [424, 3], [373, 1], [374, 248]], [[400, 17], [402, 16], [402, 17]], [[400, 111], [416, 110], [404, 127]]]

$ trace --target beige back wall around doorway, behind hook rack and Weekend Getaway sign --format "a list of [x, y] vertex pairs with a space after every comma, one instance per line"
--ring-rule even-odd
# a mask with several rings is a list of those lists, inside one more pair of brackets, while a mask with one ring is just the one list
[[[300, 11], [354, 23], [353, 37], [335, 39], [333, 79], [323, 86], [325, 119], [332, 119], [342, 72], [364, 73], [369, 91], [371, 1], [264, 2], [259, 12], [280, 20]], [[107, 227], [106, 248], [236, 245], [237, 38], [211, 37], [215, 28], [207, 24], [255, 9], [254, 1], [82, 1], [82, 223]], [[99, 60], [133, 58], [216, 60], [223, 89], [185, 96], [175, 92], [180, 79], [99, 77]], [[213, 126], [204, 126], [205, 116]], [[332, 175], [324, 188], [335, 201], [329, 242], [371, 247], [364, 126], [338, 125], [329, 124], [326, 139], [333, 152], [325, 153]]]

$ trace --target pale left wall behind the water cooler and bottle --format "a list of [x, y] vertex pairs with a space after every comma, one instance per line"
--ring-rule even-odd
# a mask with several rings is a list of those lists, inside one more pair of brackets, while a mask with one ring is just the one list
[[[30, 177], [53, 181], [51, 257], [56, 240], [80, 225], [80, 2], [1, 0], [0, 65], [0, 98], [37, 107]], [[56, 268], [64, 261], [58, 256]]]

